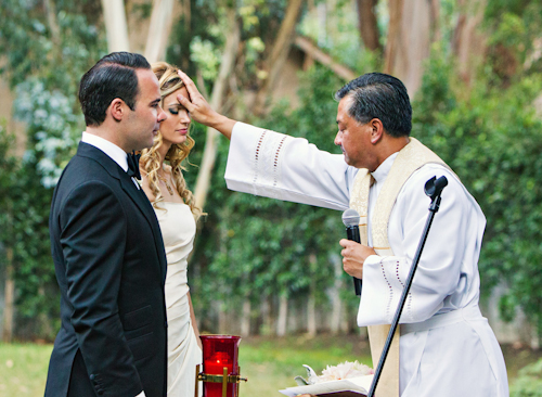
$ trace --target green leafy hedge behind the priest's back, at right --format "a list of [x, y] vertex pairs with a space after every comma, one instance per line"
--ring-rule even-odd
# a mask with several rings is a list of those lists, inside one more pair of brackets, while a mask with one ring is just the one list
[[468, 89], [451, 69], [436, 50], [414, 103], [413, 135], [455, 170], [487, 217], [482, 291], [504, 283], [504, 318], [512, 321], [520, 307], [540, 331], [542, 123], [532, 102], [541, 75], [530, 74], [503, 90], [505, 82], [496, 76], [480, 74]]

